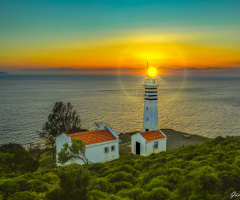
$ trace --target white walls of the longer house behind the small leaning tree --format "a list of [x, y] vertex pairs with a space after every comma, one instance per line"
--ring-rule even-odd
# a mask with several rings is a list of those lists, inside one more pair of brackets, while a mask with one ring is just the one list
[[[66, 134], [61, 134], [56, 138], [57, 153], [61, 151], [61, 149], [63, 148], [63, 144], [65, 144], [66, 142], [68, 142], [70, 146], [72, 145], [71, 137], [68, 137]], [[111, 146], [114, 145], [115, 151], [111, 151]], [[105, 147], [109, 148], [108, 153], [105, 153]], [[117, 139], [108, 142], [86, 145], [86, 157], [90, 161], [90, 163], [106, 162], [119, 158], [119, 140]], [[58, 159], [57, 154], [56, 159]], [[65, 164], [70, 164], [74, 162], [81, 165], [84, 164], [84, 162], [80, 159], [72, 159]], [[60, 166], [61, 163], [57, 163], [57, 165]]]

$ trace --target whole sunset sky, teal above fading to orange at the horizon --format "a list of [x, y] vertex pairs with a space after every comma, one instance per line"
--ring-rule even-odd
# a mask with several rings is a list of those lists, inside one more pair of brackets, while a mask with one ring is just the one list
[[239, 0], [0, 0], [0, 71], [239, 73]]

